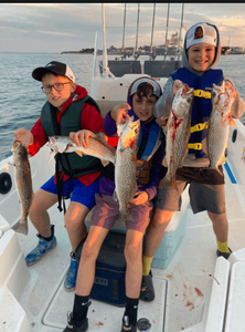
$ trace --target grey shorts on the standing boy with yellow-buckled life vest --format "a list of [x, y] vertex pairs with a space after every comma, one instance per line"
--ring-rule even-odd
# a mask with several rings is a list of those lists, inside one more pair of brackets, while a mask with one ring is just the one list
[[[167, 211], [180, 211], [181, 194], [187, 184], [187, 181], [177, 180], [177, 189], [172, 186], [158, 188], [158, 196], [153, 200], [155, 208]], [[224, 185], [190, 183], [189, 196], [193, 214], [207, 210], [220, 215], [226, 210]]]

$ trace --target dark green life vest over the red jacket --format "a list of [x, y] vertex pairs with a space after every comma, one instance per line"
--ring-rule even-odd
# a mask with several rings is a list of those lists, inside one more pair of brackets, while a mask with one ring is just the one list
[[[84, 98], [72, 103], [65, 110], [60, 125], [56, 118], [56, 107], [46, 101], [41, 113], [41, 124], [46, 137], [54, 135], [68, 136], [71, 132], [78, 132], [81, 129], [81, 116], [85, 103], [95, 106], [100, 113], [96, 102], [87, 95]], [[56, 154], [56, 163], [57, 159], [58, 170], [68, 175], [71, 178], [102, 170], [103, 168], [98, 158], [92, 156], [79, 157], [76, 153]]]

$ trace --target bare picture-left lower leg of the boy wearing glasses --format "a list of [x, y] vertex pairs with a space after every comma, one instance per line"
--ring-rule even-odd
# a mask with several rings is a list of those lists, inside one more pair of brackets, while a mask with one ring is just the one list
[[57, 201], [57, 195], [39, 189], [29, 210], [29, 217], [42, 237], [50, 237], [50, 216], [47, 209]]

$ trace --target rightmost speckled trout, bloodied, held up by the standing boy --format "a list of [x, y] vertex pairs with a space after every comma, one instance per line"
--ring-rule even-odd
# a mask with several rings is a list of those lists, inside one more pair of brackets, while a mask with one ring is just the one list
[[225, 147], [228, 141], [230, 126], [236, 126], [231, 116], [234, 95], [232, 91], [225, 89], [224, 81], [222, 85], [213, 84], [211, 101], [212, 112], [206, 134], [207, 155], [210, 168], [220, 172], [217, 166], [225, 163]]

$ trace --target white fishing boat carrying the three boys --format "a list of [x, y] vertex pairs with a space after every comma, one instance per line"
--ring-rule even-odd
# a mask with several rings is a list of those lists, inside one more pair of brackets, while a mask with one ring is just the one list
[[[96, 37], [96, 44], [97, 40]], [[103, 41], [103, 62], [94, 53], [90, 95], [104, 115], [113, 105], [126, 102], [127, 90], [135, 79], [147, 74], [163, 86], [178, 65], [171, 59], [142, 61], [145, 55], [138, 60], [107, 60], [105, 34]], [[149, 62], [152, 72], [147, 71]], [[158, 73], [162, 69], [166, 74], [155, 74], [156, 63]], [[224, 166], [228, 245], [233, 253], [228, 260], [216, 258], [212, 224], [205, 212], [192, 214], [187, 188], [181, 211], [173, 215], [152, 262], [156, 299], [150, 303], [139, 302], [138, 319], [149, 320], [148, 331], [245, 331], [245, 126], [238, 120], [235, 122]], [[34, 191], [54, 174], [53, 162], [47, 164], [49, 153], [50, 148], [44, 146], [30, 158]], [[24, 257], [38, 243], [36, 230], [30, 220], [28, 236], [11, 229], [20, 217], [14, 167], [9, 164], [12, 162], [10, 156], [0, 163], [0, 331], [63, 331], [74, 300], [74, 292], [63, 288], [71, 251], [63, 214], [56, 206], [49, 210], [57, 247], [28, 268]], [[90, 214], [87, 225], [89, 217]], [[120, 225], [114, 229], [124, 231]], [[122, 313], [124, 308], [92, 300], [88, 331], [120, 331]]]

